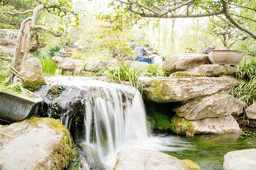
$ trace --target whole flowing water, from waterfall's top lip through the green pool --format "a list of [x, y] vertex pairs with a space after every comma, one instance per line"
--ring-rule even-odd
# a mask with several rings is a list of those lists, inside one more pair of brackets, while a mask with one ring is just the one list
[[[44, 112], [49, 117], [59, 117], [73, 132], [75, 141], [96, 148], [106, 169], [114, 167], [117, 152], [129, 147], [190, 159], [203, 170], [223, 169], [227, 152], [256, 148], [255, 137], [241, 140], [239, 134], [185, 137], [155, 131], [149, 135], [143, 100], [131, 86], [68, 76], [46, 77], [46, 82], [38, 92], [45, 99]], [[57, 97], [49, 93], [55, 85], [61, 89]], [[81, 114], [83, 126], [79, 129], [75, 117]]]

